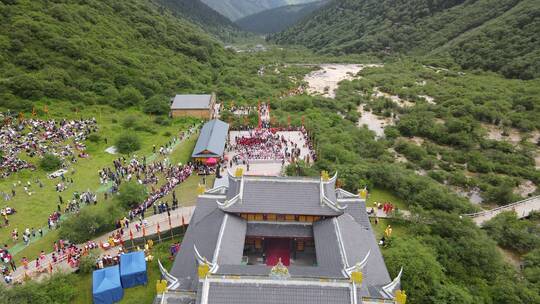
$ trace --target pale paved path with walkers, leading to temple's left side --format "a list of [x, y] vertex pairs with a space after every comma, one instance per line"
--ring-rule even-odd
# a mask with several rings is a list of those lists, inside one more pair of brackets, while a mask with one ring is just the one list
[[[194, 206], [192, 207], [181, 207], [179, 209], [176, 209], [174, 211], [171, 211], [171, 226], [169, 226], [169, 219], [167, 216], [167, 213], [161, 213], [152, 215], [150, 217], [147, 217], [145, 220], [147, 221], [147, 225], [145, 226], [145, 233], [146, 236], [151, 236], [157, 234], [157, 226], [159, 224], [160, 226], [160, 235], [163, 235], [164, 237], [169, 232], [170, 229], [174, 229], [177, 227], [182, 226], [182, 222], [185, 225], [189, 224], [189, 221], [191, 219], [191, 216], [193, 215], [193, 210], [195, 209]], [[182, 221], [182, 218], [184, 219]], [[129, 244], [130, 242], [130, 234], [129, 231], [131, 230], [133, 233], [133, 238], [143, 238], [143, 230], [136, 231], [134, 227], [135, 222], [130, 223], [129, 228], [124, 229], [124, 235], [122, 236], [122, 240]], [[111, 231], [107, 234], [104, 234], [93, 241], [96, 244], [100, 243], [106, 243], [108, 242], [108, 238], [111, 234], [117, 232], [118, 230]], [[86, 244], [86, 243], [85, 243]], [[82, 248], [85, 246], [85, 244], [79, 244], [79, 248]], [[120, 247], [113, 247], [108, 250], [102, 249], [102, 248], [96, 248], [93, 249], [92, 252], [98, 253], [100, 256], [103, 254], [109, 254], [111, 256], [116, 256], [118, 254]], [[25, 275], [33, 278], [33, 279], [42, 279], [47, 277], [48, 274], [48, 265], [49, 263], [52, 264], [52, 252], [46, 255], [45, 261], [42, 261], [41, 264], [41, 270], [36, 268], [35, 261], [30, 261], [28, 264], [28, 269], [24, 269], [24, 267], [18, 267], [16, 271], [12, 273], [13, 281], [14, 282], [22, 282]], [[71, 267], [67, 263], [67, 259], [60, 259], [57, 263], [53, 265], [53, 273], [55, 272], [74, 272], [76, 268]]]

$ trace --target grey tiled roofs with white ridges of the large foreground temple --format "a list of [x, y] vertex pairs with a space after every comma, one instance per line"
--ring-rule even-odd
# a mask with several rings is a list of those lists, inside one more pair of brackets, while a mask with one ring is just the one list
[[[212, 266], [211, 273], [214, 275], [210, 278], [232, 276], [238, 279], [235, 282], [207, 283], [209, 293], [204, 303], [259, 303], [259, 297], [256, 295], [268, 295], [269, 298], [261, 300], [260, 303], [281, 303], [281, 293], [287, 295], [294, 293], [306, 299], [305, 301], [291, 301], [288, 298], [289, 300], [283, 303], [319, 303], [319, 300], [311, 297], [312, 293], [309, 291], [312, 287], [307, 283], [302, 287], [295, 287], [294, 284], [286, 287], [274, 286], [269, 276], [271, 267], [242, 265], [246, 236], [313, 238], [316, 265], [289, 266], [290, 279], [288, 280], [319, 282], [320, 279], [328, 279], [350, 285], [350, 272], [348, 272], [350, 270], [347, 269], [361, 266], [364, 283], [354, 292], [355, 295], [358, 294], [358, 297], [391, 298], [393, 291], [399, 288], [399, 277], [392, 281], [384, 264], [366, 214], [364, 200], [341, 189], [336, 190], [332, 181], [322, 183], [313, 179], [262, 177], [230, 178], [229, 181], [227, 193], [210, 190], [199, 197], [182, 242], [182, 249], [177, 254], [170, 271], [170, 274], [179, 280], [179, 290], [197, 291], [201, 288], [203, 281], [199, 281], [197, 277], [197, 261], [200, 261], [202, 257], [207, 259]], [[268, 188], [271, 190], [267, 190]], [[326, 199], [333, 200], [336, 206], [343, 209], [337, 212], [326, 203], [321, 206], [320, 195], [323, 192]], [[224, 207], [223, 202], [226, 202], [227, 198], [238, 197], [240, 193], [244, 195], [241, 202]], [[318, 195], [313, 195], [313, 193]], [[272, 206], [269, 201], [277, 206]], [[299, 214], [306, 214], [305, 209], [325, 210], [327, 213], [321, 220], [314, 223], [248, 222], [236, 215], [237, 212], [247, 212], [245, 210], [257, 210], [254, 212], [258, 213], [279, 213], [277, 211], [287, 205], [292, 210], [298, 210]], [[231, 212], [231, 209], [244, 211]], [[287, 211], [286, 214], [291, 214], [291, 211]], [[257, 280], [262, 281], [255, 283]], [[204, 282], [207, 281], [208, 279], [204, 280]], [[247, 288], [252, 287], [253, 284], [259, 285], [256, 288]], [[280, 288], [279, 292], [276, 292], [277, 287]], [[325, 290], [328, 294], [335, 293], [334, 301], [327, 299], [322, 303], [341, 303], [338, 299], [345, 295], [348, 300], [343, 303], [350, 303], [350, 288], [337, 285], [313, 288], [317, 290], [316, 294], [320, 290]], [[254, 295], [253, 291], [247, 291], [247, 289], [258, 292]], [[274, 297], [277, 302], [269, 300]]]

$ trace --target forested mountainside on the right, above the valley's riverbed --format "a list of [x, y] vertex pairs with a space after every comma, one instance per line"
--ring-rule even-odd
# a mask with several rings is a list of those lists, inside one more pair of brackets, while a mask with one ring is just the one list
[[334, 0], [273, 39], [324, 53], [449, 54], [464, 68], [540, 76], [537, 0]]

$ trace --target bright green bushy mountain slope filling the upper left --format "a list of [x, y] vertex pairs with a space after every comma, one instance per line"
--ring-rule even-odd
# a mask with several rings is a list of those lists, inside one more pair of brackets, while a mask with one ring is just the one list
[[0, 1], [0, 106], [132, 105], [205, 91], [226, 51], [152, 2]]

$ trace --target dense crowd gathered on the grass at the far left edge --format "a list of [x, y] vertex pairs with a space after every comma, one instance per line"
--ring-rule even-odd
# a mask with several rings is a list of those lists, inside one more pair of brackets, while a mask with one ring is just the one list
[[[21, 158], [22, 153], [31, 158], [54, 154], [72, 162], [76, 161], [76, 156], [86, 157], [84, 140], [97, 131], [94, 118], [55, 121], [4, 117], [0, 127], [0, 150], [3, 152], [0, 178], [23, 169], [35, 169], [33, 164]], [[67, 143], [69, 139], [73, 139], [73, 144]]]

